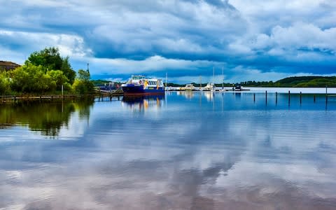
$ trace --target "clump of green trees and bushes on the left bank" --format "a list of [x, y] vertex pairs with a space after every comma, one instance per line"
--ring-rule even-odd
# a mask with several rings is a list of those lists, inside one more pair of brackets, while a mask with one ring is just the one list
[[59, 49], [45, 48], [29, 55], [22, 66], [0, 69], [0, 95], [5, 94], [87, 94], [94, 90], [90, 72], [74, 71], [69, 57], [61, 57]]

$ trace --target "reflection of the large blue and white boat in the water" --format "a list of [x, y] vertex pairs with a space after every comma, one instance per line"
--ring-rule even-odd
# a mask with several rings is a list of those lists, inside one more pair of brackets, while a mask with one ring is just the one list
[[123, 97], [122, 105], [130, 108], [132, 111], [148, 111], [160, 109], [163, 106], [165, 95], [141, 96], [141, 97]]

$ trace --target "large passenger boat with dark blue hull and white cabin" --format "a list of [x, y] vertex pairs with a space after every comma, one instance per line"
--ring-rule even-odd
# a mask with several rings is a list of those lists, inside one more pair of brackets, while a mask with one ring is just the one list
[[155, 95], [165, 94], [162, 80], [146, 78], [145, 76], [132, 76], [126, 84], [121, 85], [125, 95]]

